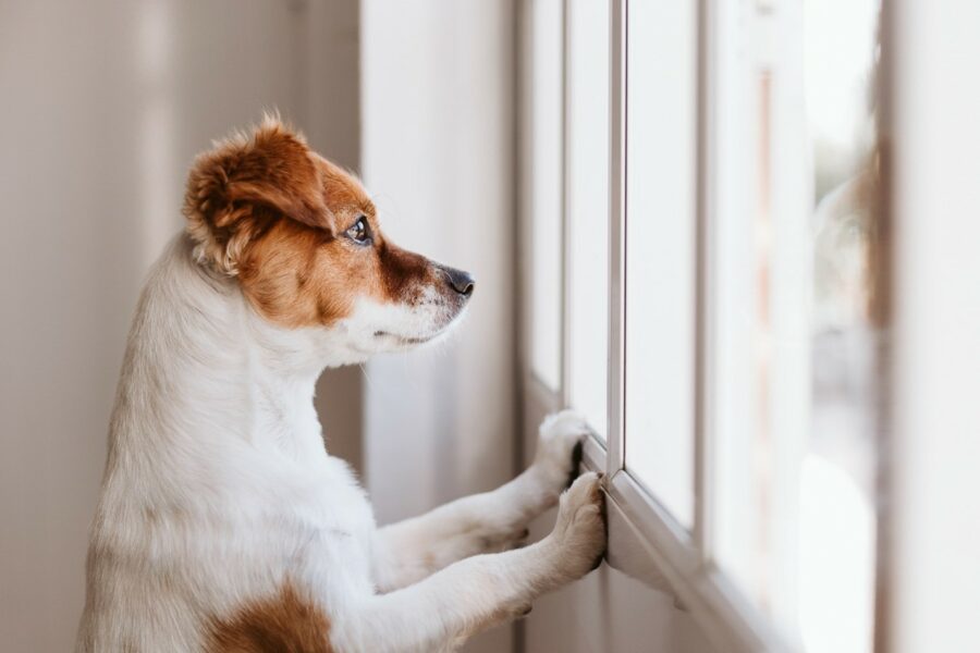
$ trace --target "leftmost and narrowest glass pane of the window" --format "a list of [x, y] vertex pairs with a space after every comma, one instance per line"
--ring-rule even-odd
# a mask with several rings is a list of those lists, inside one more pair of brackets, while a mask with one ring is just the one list
[[561, 387], [562, 44], [561, 0], [535, 0], [531, 73], [531, 368]]

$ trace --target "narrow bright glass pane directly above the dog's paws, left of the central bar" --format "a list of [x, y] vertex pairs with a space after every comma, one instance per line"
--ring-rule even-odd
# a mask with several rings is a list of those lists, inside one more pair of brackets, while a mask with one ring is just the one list
[[609, 7], [572, 0], [567, 48], [568, 398], [605, 434], [609, 335]]

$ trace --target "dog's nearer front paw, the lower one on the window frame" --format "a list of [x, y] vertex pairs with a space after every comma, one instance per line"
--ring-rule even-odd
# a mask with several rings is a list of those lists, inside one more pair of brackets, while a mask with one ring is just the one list
[[548, 537], [554, 546], [559, 575], [581, 578], [599, 566], [605, 552], [602, 477], [593, 471], [578, 477], [562, 494], [554, 529]]

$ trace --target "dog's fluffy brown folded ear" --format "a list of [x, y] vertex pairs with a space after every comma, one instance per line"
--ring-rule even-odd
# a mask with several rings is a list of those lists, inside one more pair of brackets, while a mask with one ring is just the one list
[[198, 258], [226, 274], [269, 223], [295, 220], [333, 235], [323, 173], [303, 137], [267, 115], [255, 133], [217, 143], [187, 177], [184, 215]]

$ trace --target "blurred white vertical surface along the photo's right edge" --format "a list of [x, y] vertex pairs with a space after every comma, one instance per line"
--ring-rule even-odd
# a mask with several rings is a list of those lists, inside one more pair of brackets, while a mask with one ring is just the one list
[[980, 5], [885, 3], [894, 238], [886, 650], [980, 651]]

